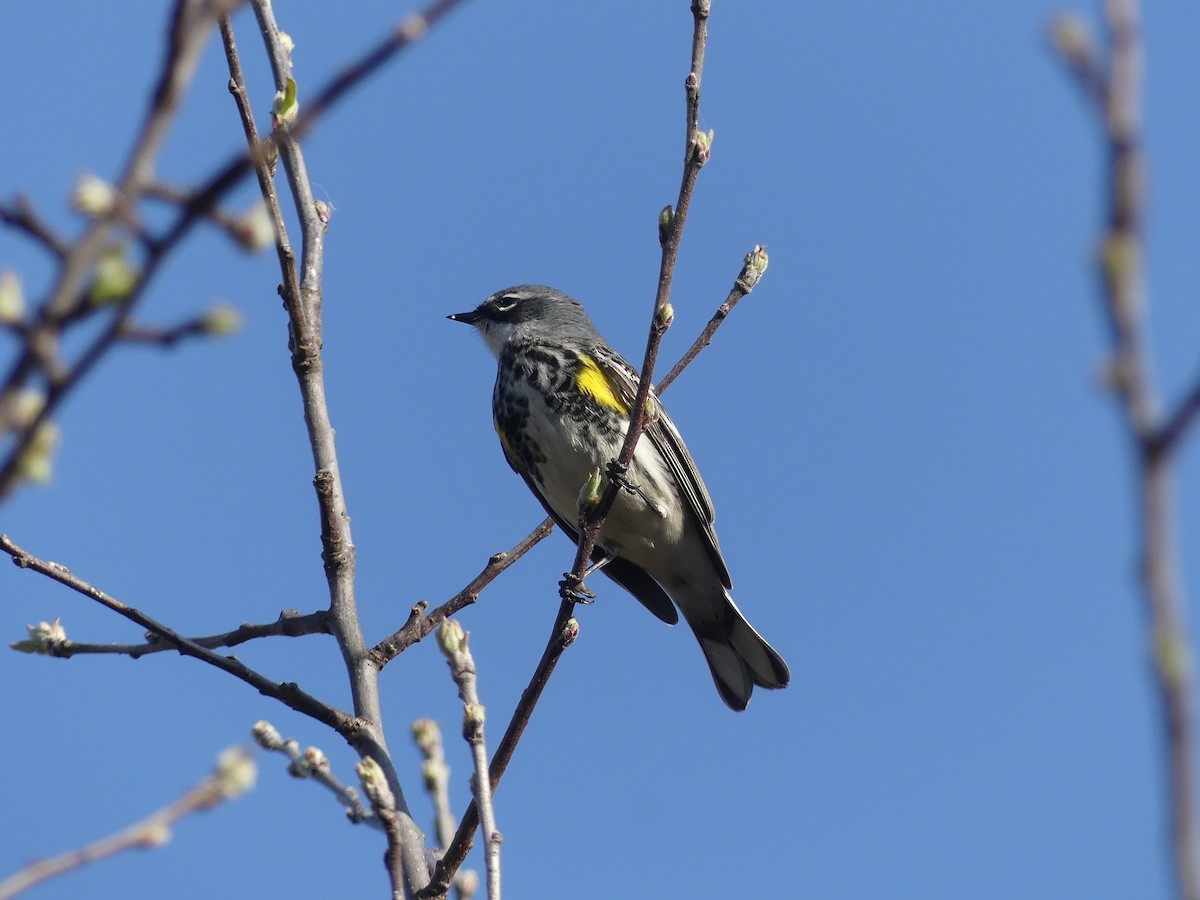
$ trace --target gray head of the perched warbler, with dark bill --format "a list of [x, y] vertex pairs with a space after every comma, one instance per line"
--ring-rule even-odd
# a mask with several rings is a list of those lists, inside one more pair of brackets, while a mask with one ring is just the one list
[[470, 312], [448, 318], [474, 325], [494, 356], [517, 340], [553, 338], [592, 343], [595, 326], [578, 300], [545, 284], [517, 284], [498, 290]]

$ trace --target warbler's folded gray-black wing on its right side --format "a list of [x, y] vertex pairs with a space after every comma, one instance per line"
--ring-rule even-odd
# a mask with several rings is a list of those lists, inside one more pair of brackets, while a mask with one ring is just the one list
[[[625, 406], [632, 409], [638, 378], [634, 367], [617, 352], [607, 349], [598, 352], [595, 361], [625, 401]], [[653, 444], [659, 456], [666, 462], [667, 469], [674, 476], [676, 484], [679, 485], [679, 490], [688, 502], [688, 508], [704, 535], [708, 554], [712, 557], [713, 565], [716, 566], [721, 583], [726, 588], [731, 588], [733, 586], [730, 582], [730, 570], [725, 565], [721, 547], [716, 541], [716, 530], [713, 528], [716, 514], [713, 511], [713, 500], [708, 496], [708, 488], [704, 487], [704, 481], [696, 470], [696, 463], [692, 462], [691, 454], [688, 452], [688, 445], [683, 443], [683, 436], [679, 434], [679, 430], [671, 421], [671, 416], [667, 415], [667, 410], [653, 390], [650, 391], [649, 410], [649, 421], [646, 424], [643, 438]]]

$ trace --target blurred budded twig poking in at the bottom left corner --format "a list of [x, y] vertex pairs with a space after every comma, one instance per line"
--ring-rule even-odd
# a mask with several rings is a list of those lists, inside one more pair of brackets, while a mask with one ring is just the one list
[[212, 775], [170, 805], [116, 834], [70, 853], [34, 863], [0, 882], [0, 900], [8, 900], [43, 881], [127, 850], [161, 847], [170, 840], [170, 829], [176, 822], [240, 797], [253, 787], [254, 775], [254, 761], [246, 750], [241, 748], [227, 750], [218, 758], [217, 769]]

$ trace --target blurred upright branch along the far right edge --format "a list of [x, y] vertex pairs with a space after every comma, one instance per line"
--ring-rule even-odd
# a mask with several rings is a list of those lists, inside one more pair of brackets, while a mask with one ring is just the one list
[[1171, 452], [1200, 403], [1200, 388], [1164, 424], [1145, 334], [1142, 44], [1136, 0], [1106, 0], [1105, 18], [1111, 47], [1106, 70], [1096, 62], [1078, 20], [1060, 19], [1051, 35], [1096, 103], [1109, 151], [1108, 214], [1098, 253], [1112, 347], [1109, 383], [1138, 460], [1141, 582], [1165, 732], [1175, 883], [1181, 898], [1200, 900], [1192, 647], [1183, 613]]

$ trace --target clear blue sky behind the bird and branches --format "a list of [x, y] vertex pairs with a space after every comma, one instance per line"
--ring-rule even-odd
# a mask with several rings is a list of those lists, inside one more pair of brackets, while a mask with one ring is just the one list
[[[1168, 896], [1129, 454], [1098, 386], [1103, 157], [1045, 46], [1058, 5], [714, 7], [702, 124], [716, 139], [667, 364], [754, 244], [770, 270], [668, 406], [713, 494], [734, 595], [793, 685], [736, 715], [689, 634], [594, 586], [497, 798], [509, 895]], [[282, 5], [301, 103], [402, 12]], [[115, 174], [164, 16], [150, 2], [0, 12], [0, 192], [79, 227], [70, 186]], [[238, 25], [262, 120], [270, 84], [252, 20]], [[1148, 293], [1157, 374], [1175, 397], [1200, 360], [1200, 11], [1152, 10], [1146, 30]], [[641, 353], [655, 216], [678, 187], [689, 38], [686, 0], [468, 4], [308, 142], [335, 210], [325, 360], [368, 638], [460, 589], [541, 517], [492, 433], [493, 362], [445, 314], [545, 282]], [[214, 42], [163, 179], [187, 184], [239, 146], [223, 66]], [[247, 187], [232, 205], [252, 198]], [[12, 234], [0, 263], [30, 294], [44, 288], [44, 260]], [[186, 632], [323, 606], [277, 278], [271, 254], [210, 232], [188, 240], [143, 320], [226, 300], [244, 331], [109, 359], [64, 410], [53, 485], [0, 509], [0, 530]], [[1180, 478], [1194, 594], [1198, 445]], [[544, 542], [462, 617], [492, 737], [570, 558], [560, 538]], [[76, 640], [138, 636], [11, 566], [0, 598], [5, 641], [54, 616]], [[329, 640], [239, 655], [348, 702]], [[0, 683], [5, 871], [173, 798], [259, 718], [352, 776], [334, 734], [188, 660], [0, 653]], [[392, 664], [383, 691], [426, 824], [408, 725], [434, 716], [452, 734], [458, 719], [432, 642]], [[452, 739], [449, 752], [461, 809], [468, 755]], [[384, 895], [378, 835], [277, 757], [260, 762], [252, 794], [167, 847], [37, 896]]]

